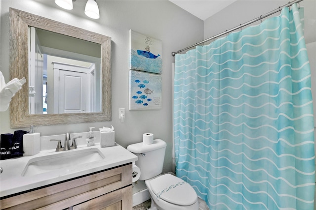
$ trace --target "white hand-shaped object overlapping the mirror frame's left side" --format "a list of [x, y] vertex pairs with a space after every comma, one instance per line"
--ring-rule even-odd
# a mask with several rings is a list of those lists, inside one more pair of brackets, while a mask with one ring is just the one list
[[0, 111], [6, 111], [9, 107], [11, 98], [19, 91], [22, 85], [26, 82], [26, 79], [14, 78], [7, 84], [5, 84], [4, 77], [0, 71]]

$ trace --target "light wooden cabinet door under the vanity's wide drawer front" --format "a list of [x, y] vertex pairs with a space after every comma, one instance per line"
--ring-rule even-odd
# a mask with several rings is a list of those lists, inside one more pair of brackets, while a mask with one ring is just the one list
[[132, 210], [132, 185], [101, 195], [73, 207], [73, 210]]

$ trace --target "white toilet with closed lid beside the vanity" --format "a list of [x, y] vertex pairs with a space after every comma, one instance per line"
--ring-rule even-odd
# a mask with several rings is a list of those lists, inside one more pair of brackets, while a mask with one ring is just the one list
[[151, 198], [151, 209], [198, 210], [197, 193], [186, 181], [171, 174], [161, 175], [167, 144], [155, 139], [153, 144], [132, 144], [127, 150], [138, 156], [139, 180], [145, 180]]

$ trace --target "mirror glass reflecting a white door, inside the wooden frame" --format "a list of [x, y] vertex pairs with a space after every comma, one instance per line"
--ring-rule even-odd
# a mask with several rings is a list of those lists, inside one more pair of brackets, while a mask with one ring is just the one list
[[[29, 27], [28, 37], [29, 113], [101, 112], [101, 45], [34, 27]], [[59, 66], [55, 67], [54, 63]], [[59, 95], [60, 84], [56, 81], [60, 78], [56, 68], [68, 73], [81, 72], [85, 76], [62, 78], [67, 81], [61, 87], [62, 95]], [[80, 95], [73, 91], [75, 89], [80, 90]]]

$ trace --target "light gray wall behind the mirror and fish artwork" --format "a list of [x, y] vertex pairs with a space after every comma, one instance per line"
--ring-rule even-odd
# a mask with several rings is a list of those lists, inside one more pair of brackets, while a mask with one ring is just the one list
[[[203, 39], [203, 21], [167, 0], [97, 0], [100, 19], [84, 15], [86, 0], [74, 2], [71, 11], [58, 7], [53, 0], [2, 0], [1, 3], [1, 65], [9, 81], [9, 7], [20, 9], [85, 30], [112, 37], [112, 121], [40, 126], [41, 136], [88, 131], [88, 127], [110, 127], [116, 131], [116, 142], [123, 147], [142, 141], [143, 133], [167, 142], [164, 171], [172, 170], [172, 72], [177, 51]], [[128, 111], [129, 30], [162, 41], [162, 109]], [[125, 108], [125, 121], [118, 120], [118, 108]], [[9, 111], [0, 112], [0, 133], [13, 133], [9, 127]], [[29, 128], [21, 128], [29, 130]]]

